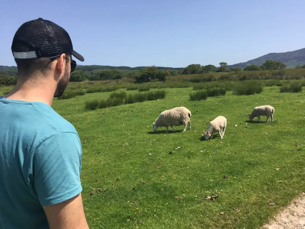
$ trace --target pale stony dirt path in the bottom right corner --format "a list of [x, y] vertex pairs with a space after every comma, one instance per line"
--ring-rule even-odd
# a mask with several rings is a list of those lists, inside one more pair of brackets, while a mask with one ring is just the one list
[[305, 229], [305, 192], [278, 213], [262, 229]]

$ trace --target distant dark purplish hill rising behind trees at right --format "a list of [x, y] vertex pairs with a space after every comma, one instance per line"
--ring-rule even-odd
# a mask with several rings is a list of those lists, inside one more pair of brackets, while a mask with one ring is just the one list
[[287, 68], [294, 68], [297, 65], [305, 64], [305, 48], [286, 53], [269, 53], [256, 59], [243, 63], [228, 65], [227, 67], [230, 68], [239, 66], [245, 68], [251, 64], [262, 65], [266, 60], [280, 60], [287, 65]]

